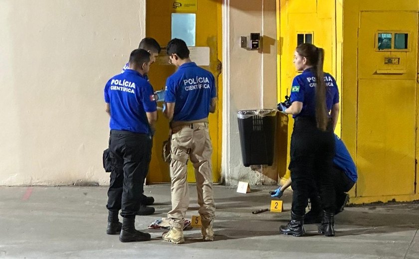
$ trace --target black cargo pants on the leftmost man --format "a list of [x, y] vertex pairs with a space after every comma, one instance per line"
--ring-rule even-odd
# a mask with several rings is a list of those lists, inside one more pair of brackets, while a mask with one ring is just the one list
[[115, 165], [108, 190], [109, 211], [135, 218], [143, 195], [144, 180], [151, 161], [152, 139], [149, 134], [111, 130], [109, 150]]

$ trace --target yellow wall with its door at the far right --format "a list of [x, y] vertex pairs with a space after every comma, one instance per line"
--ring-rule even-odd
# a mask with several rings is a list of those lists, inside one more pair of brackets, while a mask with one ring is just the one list
[[[358, 166], [354, 203], [419, 198], [417, 12], [418, 1], [345, 1], [342, 139]], [[409, 31], [410, 51], [374, 51], [377, 30]], [[401, 64], [385, 65], [386, 57]], [[405, 72], [386, 74], [391, 69]]]

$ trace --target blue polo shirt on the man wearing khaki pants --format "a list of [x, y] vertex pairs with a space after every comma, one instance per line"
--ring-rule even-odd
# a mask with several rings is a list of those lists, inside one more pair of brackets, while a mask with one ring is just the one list
[[176, 103], [173, 121], [195, 121], [208, 117], [216, 97], [214, 76], [194, 62], [181, 65], [166, 81], [166, 103]]

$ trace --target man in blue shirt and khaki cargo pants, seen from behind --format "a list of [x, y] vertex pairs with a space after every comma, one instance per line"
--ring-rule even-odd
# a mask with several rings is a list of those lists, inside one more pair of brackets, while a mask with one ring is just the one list
[[169, 62], [179, 69], [166, 82], [167, 109], [164, 114], [169, 119], [172, 130], [172, 210], [168, 213], [168, 218], [173, 224], [169, 232], [163, 233], [163, 240], [175, 244], [185, 242], [183, 227], [189, 206], [187, 162], [190, 159], [197, 180], [202, 237], [204, 241], [213, 241], [212, 222], [215, 217], [215, 205], [208, 115], [215, 112], [215, 79], [210, 72], [191, 61], [185, 41], [172, 39], [166, 49]]

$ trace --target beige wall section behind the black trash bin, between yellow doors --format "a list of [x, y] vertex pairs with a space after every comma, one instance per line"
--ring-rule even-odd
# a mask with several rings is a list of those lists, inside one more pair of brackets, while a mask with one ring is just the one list
[[[222, 177], [227, 185], [275, 183], [275, 167], [252, 171], [241, 159], [237, 111], [276, 108], [276, 1], [223, 1]], [[260, 51], [240, 47], [240, 36], [260, 32]]]

